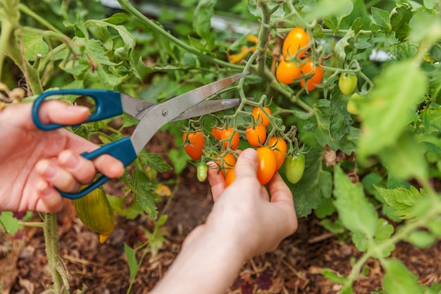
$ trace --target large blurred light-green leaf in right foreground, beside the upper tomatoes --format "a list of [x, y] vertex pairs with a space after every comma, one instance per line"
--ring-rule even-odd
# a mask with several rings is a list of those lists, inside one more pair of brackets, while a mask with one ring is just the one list
[[411, 61], [393, 63], [374, 82], [371, 97], [360, 107], [363, 135], [358, 154], [361, 161], [369, 154], [397, 144], [414, 119], [416, 106], [427, 88], [425, 75]]

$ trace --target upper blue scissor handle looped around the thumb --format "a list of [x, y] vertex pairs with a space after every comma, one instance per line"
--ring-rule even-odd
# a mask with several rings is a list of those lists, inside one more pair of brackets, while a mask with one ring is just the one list
[[94, 99], [96, 106], [95, 111], [89, 116], [89, 118], [87, 118], [85, 123], [89, 121], [101, 121], [104, 118], [111, 118], [113, 116], [123, 114], [121, 95], [118, 91], [96, 89], [53, 90], [40, 94], [39, 97], [35, 99], [35, 102], [32, 105], [32, 119], [34, 120], [35, 125], [37, 125], [37, 128], [39, 128], [40, 130], [54, 130], [56, 128], [63, 128], [67, 126], [58, 123], [50, 123], [45, 125], [44, 123], [42, 123], [42, 121], [40, 121], [39, 108], [42, 105], [42, 102], [44, 102], [44, 99], [46, 99], [47, 97], [68, 94], [82, 95]]

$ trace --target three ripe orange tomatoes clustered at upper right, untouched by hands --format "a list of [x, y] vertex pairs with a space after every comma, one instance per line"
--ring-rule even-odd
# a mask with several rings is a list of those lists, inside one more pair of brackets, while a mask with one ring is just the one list
[[288, 33], [282, 46], [283, 59], [275, 72], [279, 82], [289, 85], [301, 79], [300, 85], [307, 91], [314, 90], [316, 85], [320, 84], [323, 79], [323, 68], [316, 66], [310, 56], [304, 57], [309, 43], [309, 35], [302, 27], [294, 27]]

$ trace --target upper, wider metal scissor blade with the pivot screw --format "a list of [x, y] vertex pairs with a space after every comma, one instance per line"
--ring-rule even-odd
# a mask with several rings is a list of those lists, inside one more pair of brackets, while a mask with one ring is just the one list
[[233, 82], [243, 78], [248, 72], [238, 73], [237, 75], [232, 75], [223, 80], [218, 80], [216, 82], [211, 82], [209, 85], [204, 85], [197, 89], [194, 89], [185, 94], [179, 95], [173, 99], [170, 99], [164, 103], [156, 104], [151, 106], [150, 111], [141, 118], [137, 128], [130, 137], [132, 141], [133, 148], [136, 153], [139, 153], [147, 142], [153, 137], [153, 135], [161, 128], [163, 125], [169, 121], [173, 121], [182, 112], [191, 109], [196, 104], [204, 101], [204, 99], [216, 94], [225, 87], [228, 87]]

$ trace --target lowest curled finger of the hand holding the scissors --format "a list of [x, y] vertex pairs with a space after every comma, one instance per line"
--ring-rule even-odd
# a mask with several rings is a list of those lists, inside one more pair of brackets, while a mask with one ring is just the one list
[[39, 179], [35, 185], [37, 190], [37, 203], [35, 204], [35, 210], [37, 212], [52, 213], [59, 212], [63, 208], [63, 197], [45, 180]]

